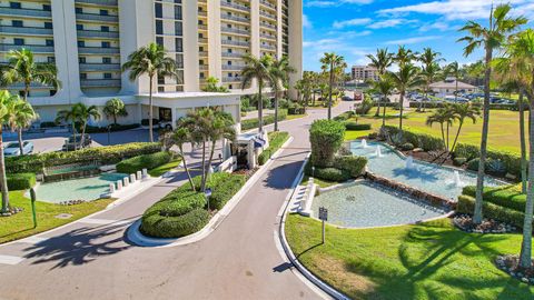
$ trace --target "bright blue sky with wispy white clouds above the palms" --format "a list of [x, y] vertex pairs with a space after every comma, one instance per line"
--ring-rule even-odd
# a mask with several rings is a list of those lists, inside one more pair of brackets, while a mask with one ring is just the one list
[[[495, 0], [500, 3], [500, 0]], [[513, 14], [534, 19], [534, 0], [508, 0]], [[491, 0], [304, 0], [304, 69], [319, 70], [324, 52], [335, 51], [348, 66], [366, 64], [367, 53], [405, 44], [414, 51], [431, 47], [448, 61], [463, 57], [457, 31], [467, 20], [487, 22]], [[531, 27], [533, 23], [528, 23]]]

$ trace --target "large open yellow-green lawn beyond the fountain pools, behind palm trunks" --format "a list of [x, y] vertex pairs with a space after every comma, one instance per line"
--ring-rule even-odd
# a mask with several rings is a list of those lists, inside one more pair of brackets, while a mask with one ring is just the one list
[[[432, 113], [432, 110], [421, 113], [415, 112], [415, 109], [406, 111], [406, 119], [403, 120], [404, 126], [411, 130], [422, 133], [429, 133], [441, 138], [439, 124], [435, 123], [432, 128], [425, 124], [426, 118]], [[386, 124], [398, 126], [397, 110], [389, 109], [386, 112]], [[527, 114], [525, 113], [525, 118]], [[492, 110], [490, 113], [490, 137], [488, 146], [495, 150], [505, 150], [514, 153], [520, 153], [520, 114], [516, 111], [508, 110]], [[374, 117], [374, 110], [369, 114], [358, 117], [360, 123], [372, 123], [375, 130], [382, 126], [382, 118]], [[451, 131], [451, 140], [454, 139], [456, 133], [457, 122], [454, 124]], [[459, 142], [479, 144], [482, 131], [482, 119], [478, 119], [475, 124], [469, 121], [464, 123], [462, 133], [459, 136]]]

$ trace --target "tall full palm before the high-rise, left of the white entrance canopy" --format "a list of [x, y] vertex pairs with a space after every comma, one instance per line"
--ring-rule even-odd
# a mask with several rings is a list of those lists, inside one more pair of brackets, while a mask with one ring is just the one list
[[148, 127], [149, 139], [154, 142], [154, 118], [152, 118], [152, 92], [154, 80], [156, 77], [174, 77], [178, 78], [176, 73], [177, 64], [174, 59], [167, 57], [165, 48], [157, 43], [149, 43], [141, 47], [128, 56], [128, 61], [122, 64], [122, 72], [129, 70], [130, 81], [136, 81], [141, 76], [148, 76], [149, 79], [149, 96], [148, 96]]

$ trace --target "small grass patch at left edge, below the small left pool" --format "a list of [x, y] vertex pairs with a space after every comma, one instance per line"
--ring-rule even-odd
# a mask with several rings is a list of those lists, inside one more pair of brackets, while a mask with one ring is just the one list
[[[103, 199], [77, 206], [59, 206], [37, 201], [38, 227], [33, 228], [30, 199], [26, 198], [22, 191], [9, 192], [9, 197], [11, 206], [22, 208], [23, 211], [11, 217], [0, 218], [0, 243], [22, 239], [72, 222], [105, 209], [113, 201], [113, 199]], [[70, 213], [72, 218], [67, 220], [55, 218], [60, 213]]]

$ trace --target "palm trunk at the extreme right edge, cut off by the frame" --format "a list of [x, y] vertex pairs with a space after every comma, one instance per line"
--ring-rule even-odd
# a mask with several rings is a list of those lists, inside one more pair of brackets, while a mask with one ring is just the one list
[[[534, 81], [534, 80], [533, 80]], [[533, 84], [534, 86], [534, 84]], [[534, 97], [530, 97], [531, 114], [530, 114], [530, 164], [528, 164], [528, 193], [525, 204], [525, 220], [523, 222], [523, 241], [521, 243], [520, 267], [531, 268], [532, 266], [532, 213], [534, 211]]]

